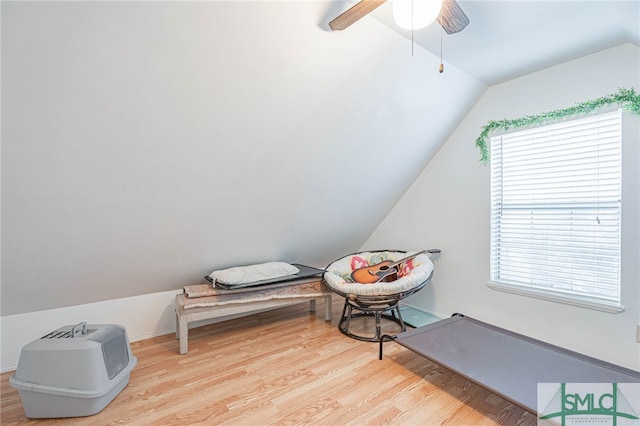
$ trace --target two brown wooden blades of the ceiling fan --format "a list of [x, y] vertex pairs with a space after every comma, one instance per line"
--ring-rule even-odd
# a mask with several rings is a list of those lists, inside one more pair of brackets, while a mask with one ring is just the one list
[[[329, 22], [332, 30], [344, 30], [359, 19], [386, 3], [387, 0], [360, 0], [337, 18]], [[469, 18], [455, 0], [443, 0], [437, 21], [447, 34], [460, 32], [469, 24]]]

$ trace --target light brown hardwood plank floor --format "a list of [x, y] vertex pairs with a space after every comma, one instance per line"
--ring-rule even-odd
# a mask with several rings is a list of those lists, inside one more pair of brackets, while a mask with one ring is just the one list
[[[9, 425], [535, 425], [536, 416], [395, 343], [337, 329], [308, 304], [131, 344], [129, 385], [90, 417], [31, 420], [2, 374], [0, 423]], [[372, 325], [369, 318], [367, 324]], [[389, 325], [389, 332], [396, 332]]]

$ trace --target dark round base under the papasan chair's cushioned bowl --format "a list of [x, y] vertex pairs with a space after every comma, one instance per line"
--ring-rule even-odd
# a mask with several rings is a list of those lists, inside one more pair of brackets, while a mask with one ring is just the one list
[[[359, 311], [354, 313], [354, 310]], [[372, 316], [375, 318], [375, 336], [363, 336], [360, 334], [355, 334], [349, 331], [349, 325], [353, 318], [361, 318], [366, 316]], [[402, 320], [402, 314], [400, 313], [400, 308], [398, 307], [398, 301], [393, 301], [390, 303], [384, 303], [382, 305], [375, 305], [371, 303], [359, 303], [357, 300], [350, 300], [345, 298], [344, 307], [342, 308], [342, 316], [340, 317], [340, 322], [338, 323], [338, 329], [345, 336], [351, 337], [352, 339], [362, 340], [365, 342], [379, 342], [380, 337], [382, 336], [382, 319], [387, 319], [395, 322], [400, 325], [402, 331], [407, 330], [407, 326]]]

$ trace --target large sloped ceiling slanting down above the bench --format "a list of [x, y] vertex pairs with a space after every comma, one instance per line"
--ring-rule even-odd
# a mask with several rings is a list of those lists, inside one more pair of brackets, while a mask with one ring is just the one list
[[335, 2], [2, 2], [2, 315], [361, 247], [486, 86]]

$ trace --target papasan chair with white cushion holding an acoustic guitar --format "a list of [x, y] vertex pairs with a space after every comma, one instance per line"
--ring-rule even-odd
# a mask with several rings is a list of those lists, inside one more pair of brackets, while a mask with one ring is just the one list
[[[354, 339], [378, 342], [384, 318], [405, 331], [398, 303], [429, 283], [433, 276], [433, 263], [428, 254], [439, 252], [438, 249], [421, 252], [365, 251], [331, 262], [325, 268], [323, 281], [345, 299], [338, 329]], [[366, 316], [375, 318], [374, 336], [349, 330], [352, 319]]]

